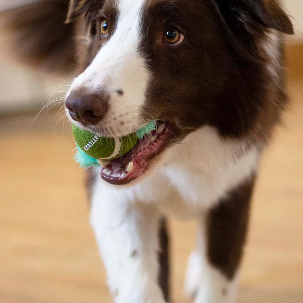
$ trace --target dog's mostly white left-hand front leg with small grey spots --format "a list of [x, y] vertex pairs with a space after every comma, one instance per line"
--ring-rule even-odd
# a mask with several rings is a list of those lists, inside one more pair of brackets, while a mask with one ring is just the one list
[[92, 193], [91, 223], [116, 303], [165, 303], [159, 278], [160, 216], [136, 204], [125, 191], [102, 188]]

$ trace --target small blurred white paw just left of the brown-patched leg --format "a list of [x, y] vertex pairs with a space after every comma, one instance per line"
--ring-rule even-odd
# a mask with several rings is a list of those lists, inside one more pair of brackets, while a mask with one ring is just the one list
[[202, 256], [198, 251], [192, 251], [188, 258], [185, 275], [184, 292], [190, 298], [195, 298], [201, 283]]

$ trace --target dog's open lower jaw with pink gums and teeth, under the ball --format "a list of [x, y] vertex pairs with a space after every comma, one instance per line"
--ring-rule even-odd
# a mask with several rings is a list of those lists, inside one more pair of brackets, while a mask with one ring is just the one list
[[142, 140], [119, 159], [102, 165], [101, 178], [115, 185], [127, 184], [140, 177], [148, 169], [149, 160], [159, 155], [171, 139], [171, 122], [157, 121], [157, 128], [145, 134]]

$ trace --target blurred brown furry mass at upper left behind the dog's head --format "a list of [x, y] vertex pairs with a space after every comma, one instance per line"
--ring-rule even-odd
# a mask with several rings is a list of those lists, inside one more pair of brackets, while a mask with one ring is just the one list
[[68, 0], [24, 1], [0, 7], [2, 47], [8, 54], [46, 73], [71, 74], [75, 65], [73, 26], [64, 24]]

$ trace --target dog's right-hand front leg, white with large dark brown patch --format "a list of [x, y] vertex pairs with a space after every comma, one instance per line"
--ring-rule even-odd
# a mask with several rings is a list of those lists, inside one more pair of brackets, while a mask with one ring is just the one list
[[195, 303], [235, 303], [254, 178], [232, 189], [201, 214], [186, 292]]

